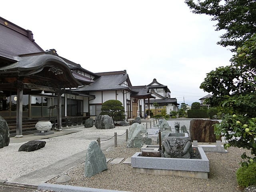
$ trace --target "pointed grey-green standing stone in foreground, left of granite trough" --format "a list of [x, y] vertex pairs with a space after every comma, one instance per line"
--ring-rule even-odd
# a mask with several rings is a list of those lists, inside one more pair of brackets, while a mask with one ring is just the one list
[[84, 163], [84, 175], [86, 177], [92, 177], [104, 170], [108, 170], [106, 156], [96, 141], [90, 142]]

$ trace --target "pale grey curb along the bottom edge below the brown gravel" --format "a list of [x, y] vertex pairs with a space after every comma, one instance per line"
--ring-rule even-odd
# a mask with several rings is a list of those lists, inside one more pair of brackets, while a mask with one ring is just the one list
[[50, 183], [42, 183], [38, 185], [37, 189], [53, 190], [54, 192], [127, 192], [127, 191], [77, 187], [77, 186], [70, 186], [70, 185], [58, 185], [58, 184], [50, 184]]

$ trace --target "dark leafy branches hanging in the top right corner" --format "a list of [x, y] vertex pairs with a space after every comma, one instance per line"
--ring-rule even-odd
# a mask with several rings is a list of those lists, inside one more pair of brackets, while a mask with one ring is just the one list
[[256, 33], [255, 0], [185, 0], [185, 3], [195, 14], [212, 16], [218, 22], [217, 31], [226, 31], [218, 42], [222, 46], [242, 46]]

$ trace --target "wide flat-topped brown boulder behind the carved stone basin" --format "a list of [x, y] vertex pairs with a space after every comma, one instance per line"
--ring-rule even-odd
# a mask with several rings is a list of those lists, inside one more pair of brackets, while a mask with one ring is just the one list
[[214, 124], [218, 124], [217, 120], [205, 120], [205, 119], [192, 119], [190, 121], [190, 137], [191, 140], [197, 140], [198, 142], [215, 143], [216, 139], [214, 134]]

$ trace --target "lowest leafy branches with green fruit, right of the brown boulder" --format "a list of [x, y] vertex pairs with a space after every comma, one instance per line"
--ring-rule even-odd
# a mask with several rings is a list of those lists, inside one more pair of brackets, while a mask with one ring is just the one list
[[[246, 148], [254, 155], [253, 159], [256, 161], [256, 118], [238, 114], [226, 115], [220, 124], [214, 125], [214, 133], [225, 137], [225, 149], [230, 146]], [[242, 154], [241, 158], [244, 160], [242, 166], [247, 166], [252, 161], [246, 153]]]

